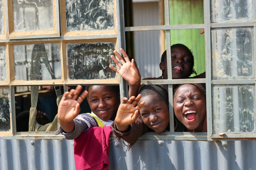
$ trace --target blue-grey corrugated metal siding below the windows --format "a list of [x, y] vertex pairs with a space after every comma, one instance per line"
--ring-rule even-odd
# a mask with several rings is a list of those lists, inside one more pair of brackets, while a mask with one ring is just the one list
[[[34, 142], [33, 145], [31, 145]], [[110, 170], [253, 170], [256, 141], [138, 140], [110, 144]], [[75, 169], [72, 140], [0, 139], [0, 170]]]

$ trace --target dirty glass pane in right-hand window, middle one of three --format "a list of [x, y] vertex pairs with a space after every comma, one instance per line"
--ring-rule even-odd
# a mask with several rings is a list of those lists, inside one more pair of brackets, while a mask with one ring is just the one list
[[212, 30], [213, 79], [254, 79], [253, 28]]

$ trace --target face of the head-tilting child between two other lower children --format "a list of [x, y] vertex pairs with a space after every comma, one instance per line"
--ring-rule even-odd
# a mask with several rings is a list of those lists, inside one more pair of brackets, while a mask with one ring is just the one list
[[153, 95], [142, 97], [141, 101], [145, 101], [140, 109], [143, 122], [156, 133], [165, 131], [169, 125], [169, 109], [165, 101], [159, 101]]

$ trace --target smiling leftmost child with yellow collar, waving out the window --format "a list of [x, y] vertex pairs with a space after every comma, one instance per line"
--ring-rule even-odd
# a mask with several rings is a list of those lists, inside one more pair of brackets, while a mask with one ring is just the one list
[[[91, 126], [110, 126], [117, 112], [119, 105], [119, 87], [108, 85], [89, 86], [78, 97], [82, 86], [77, 85], [76, 89], [65, 92], [59, 103], [58, 119], [62, 132], [66, 139], [74, 139]], [[88, 95], [88, 97], [87, 97]], [[79, 114], [80, 104], [87, 97], [91, 113]]]

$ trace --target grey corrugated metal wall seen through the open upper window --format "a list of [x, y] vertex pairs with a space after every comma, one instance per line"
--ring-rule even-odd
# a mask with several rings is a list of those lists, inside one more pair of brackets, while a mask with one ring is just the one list
[[[133, 3], [133, 26], [159, 25], [158, 2]], [[140, 70], [142, 79], [159, 77], [160, 32], [134, 31], [134, 60]]]

